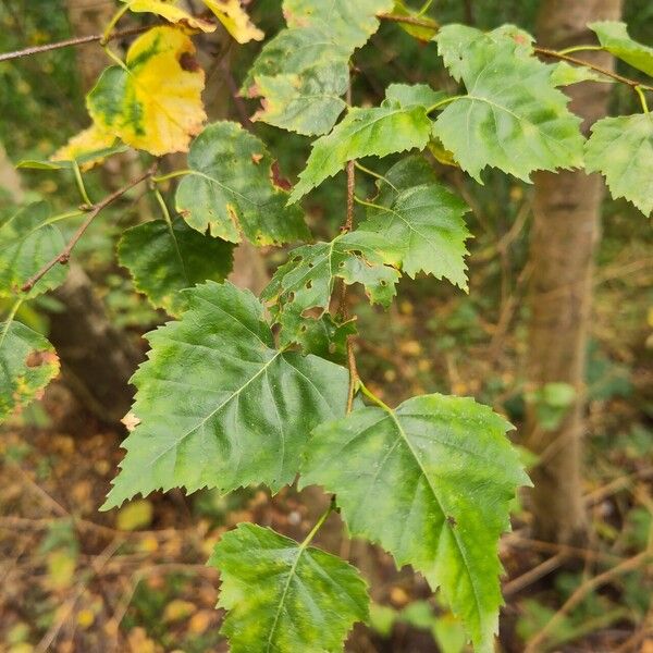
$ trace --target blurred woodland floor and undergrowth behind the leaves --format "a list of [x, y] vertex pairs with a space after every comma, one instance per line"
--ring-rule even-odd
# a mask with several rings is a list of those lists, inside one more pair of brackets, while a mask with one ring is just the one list
[[[480, 28], [510, 22], [546, 39], [552, 30], [542, 17], [543, 3], [435, 0], [427, 15]], [[0, 52], [97, 34], [116, 5], [0, 0]], [[278, 0], [251, 0], [248, 11], [268, 35], [283, 26]], [[625, 0], [623, 15], [633, 38], [653, 45], [650, 0]], [[130, 17], [124, 26], [148, 20]], [[284, 176], [296, 178], [309, 140], [251, 125], [256, 103], [236, 95], [260, 45], [236, 48], [224, 34], [196, 42], [207, 70], [210, 118], [252, 128]], [[114, 45], [124, 48], [128, 41]], [[0, 63], [0, 223], [37, 199], [48, 199], [56, 212], [76, 206], [74, 180], [65, 171], [19, 174], [14, 165], [49, 157], [87, 126], [84, 95], [108, 64], [97, 45]], [[358, 104], [378, 104], [392, 82], [454, 88], [434, 44], [416, 40], [396, 24], [382, 24], [355, 64]], [[604, 96], [592, 100], [600, 112], [640, 110], [626, 87], [605, 85]], [[184, 167], [181, 157], [168, 159], [170, 170]], [[392, 162], [374, 161], [374, 167], [383, 170]], [[102, 197], [143, 165], [135, 153], [111, 159], [87, 175], [90, 193]], [[626, 201], [597, 196], [592, 220], [597, 225], [600, 217], [601, 238], [593, 275], [583, 272], [592, 271], [587, 260], [574, 260], [572, 248], [557, 252], [557, 264], [570, 271], [569, 283], [581, 283], [582, 301], [591, 301], [591, 315], [581, 310], [574, 317], [567, 298], [538, 297], [546, 252], [533, 225], [542, 222], [551, 180], [540, 177], [533, 187], [490, 171], [480, 186], [454, 167], [439, 172], [472, 207], [470, 293], [434, 279], [404, 280], [387, 312], [350, 293], [364, 335], [357, 345], [361, 375], [393, 405], [426, 392], [472, 395], [517, 427], [514, 440], [545, 490], [517, 502], [513, 532], [501, 544], [506, 569], [501, 650], [523, 651], [535, 642], [542, 652], [652, 653], [653, 577], [641, 557], [653, 541], [651, 222]], [[574, 174], [566, 187], [578, 183], [584, 193], [582, 173]], [[367, 178], [357, 183], [359, 196], [373, 195]], [[168, 193], [173, 190], [171, 185]], [[336, 233], [344, 190], [338, 175], [306, 202], [317, 237]], [[570, 192], [567, 199], [565, 212], [558, 210], [547, 225], [552, 247], [566, 237], [564, 225], [581, 219], [575, 207], [583, 198]], [[109, 208], [75, 250], [66, 284], [24, 304], [17, 316], [50, 337], [63, 371], [39, 402], [0, 427], [1, 651], [226, 651], [218, 632], [222, 615], [213, 608], [219, 576], [205, 566], [213, 544], [244, 520], [301, 538], [324, 505], [317, 489], [291, 488], [271, 497], [266, 489], [250, 488], [227, 497], [170, 492], [98, 513], [122, 457], [126, 432], [120, 419], [132, 398], [128, 379], [145, 357], [141, 335], [168, 319], [134, 289], [115, 260], [115, 243], [125, 227], [156, 214], [138, 188]], [[235, 283], [260, 291], [286, 251], [241, 247]], [[0, 315], [9, 307], [0, 304]], [[538, 311], [566, 321], [556, 324], [552, 317], [554, 332], [533, 338], [546, 318]], [[575, 350], [565, 353], [565, 346]], [[556, 356], [580, 367], [569, 378], [557, 370], [557, 378], [538, 379], [533, 370]], [[579, 373], [582, 396], [574, 375]], [[551, 382], [535, 387], [533, 378]], [[574, 444], [579, 438], [582, 447]], [[408, 568], [397, 571], [378, 549], [349, 542], [336, 515], [318, 544], [349, 557], [371, 583], [370, 624], [355, 628], [347, 651], [467, 650], [459, 625], [426, 581]]]

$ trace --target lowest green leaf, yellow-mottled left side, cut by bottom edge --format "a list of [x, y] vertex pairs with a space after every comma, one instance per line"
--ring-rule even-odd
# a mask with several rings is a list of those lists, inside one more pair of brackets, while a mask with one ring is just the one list
[[279, 533], [241, 523], [209, 560], [220, 569], [219, 607], [232, 653], [335, 653], [355, 621], [368, 618], [358, 570]]

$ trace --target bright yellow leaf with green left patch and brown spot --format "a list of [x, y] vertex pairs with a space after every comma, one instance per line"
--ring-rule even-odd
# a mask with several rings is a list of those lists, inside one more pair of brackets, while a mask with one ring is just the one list
[[193, 41], [174, 27], [136, 39], [124, 67], [107, 69], [87, 97], [97, 126], [155, 156], [186, 151], [207, 115]]

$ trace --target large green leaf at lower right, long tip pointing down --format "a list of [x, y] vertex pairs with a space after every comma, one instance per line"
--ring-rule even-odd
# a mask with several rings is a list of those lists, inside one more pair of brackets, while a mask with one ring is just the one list
[[300, 483], [322, 485], [353, 535], [378, 542], [440, 587], [479, 652], [502, 604], [497, 540], [528, 483], [502, 417], [468, 397], [426, 395], [318, 427]]

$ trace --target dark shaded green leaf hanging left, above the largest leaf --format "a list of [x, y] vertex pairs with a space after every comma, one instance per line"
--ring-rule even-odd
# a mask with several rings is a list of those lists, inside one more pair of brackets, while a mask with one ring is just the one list
[[233, 264], [233, 245], [202, 236], [183, 220], [155, 220], [128, 229], [118, 246], [121, 266], [156, 308], [177, 316], [187, 307], [180, 291], [207, 280], [223, 281]]

